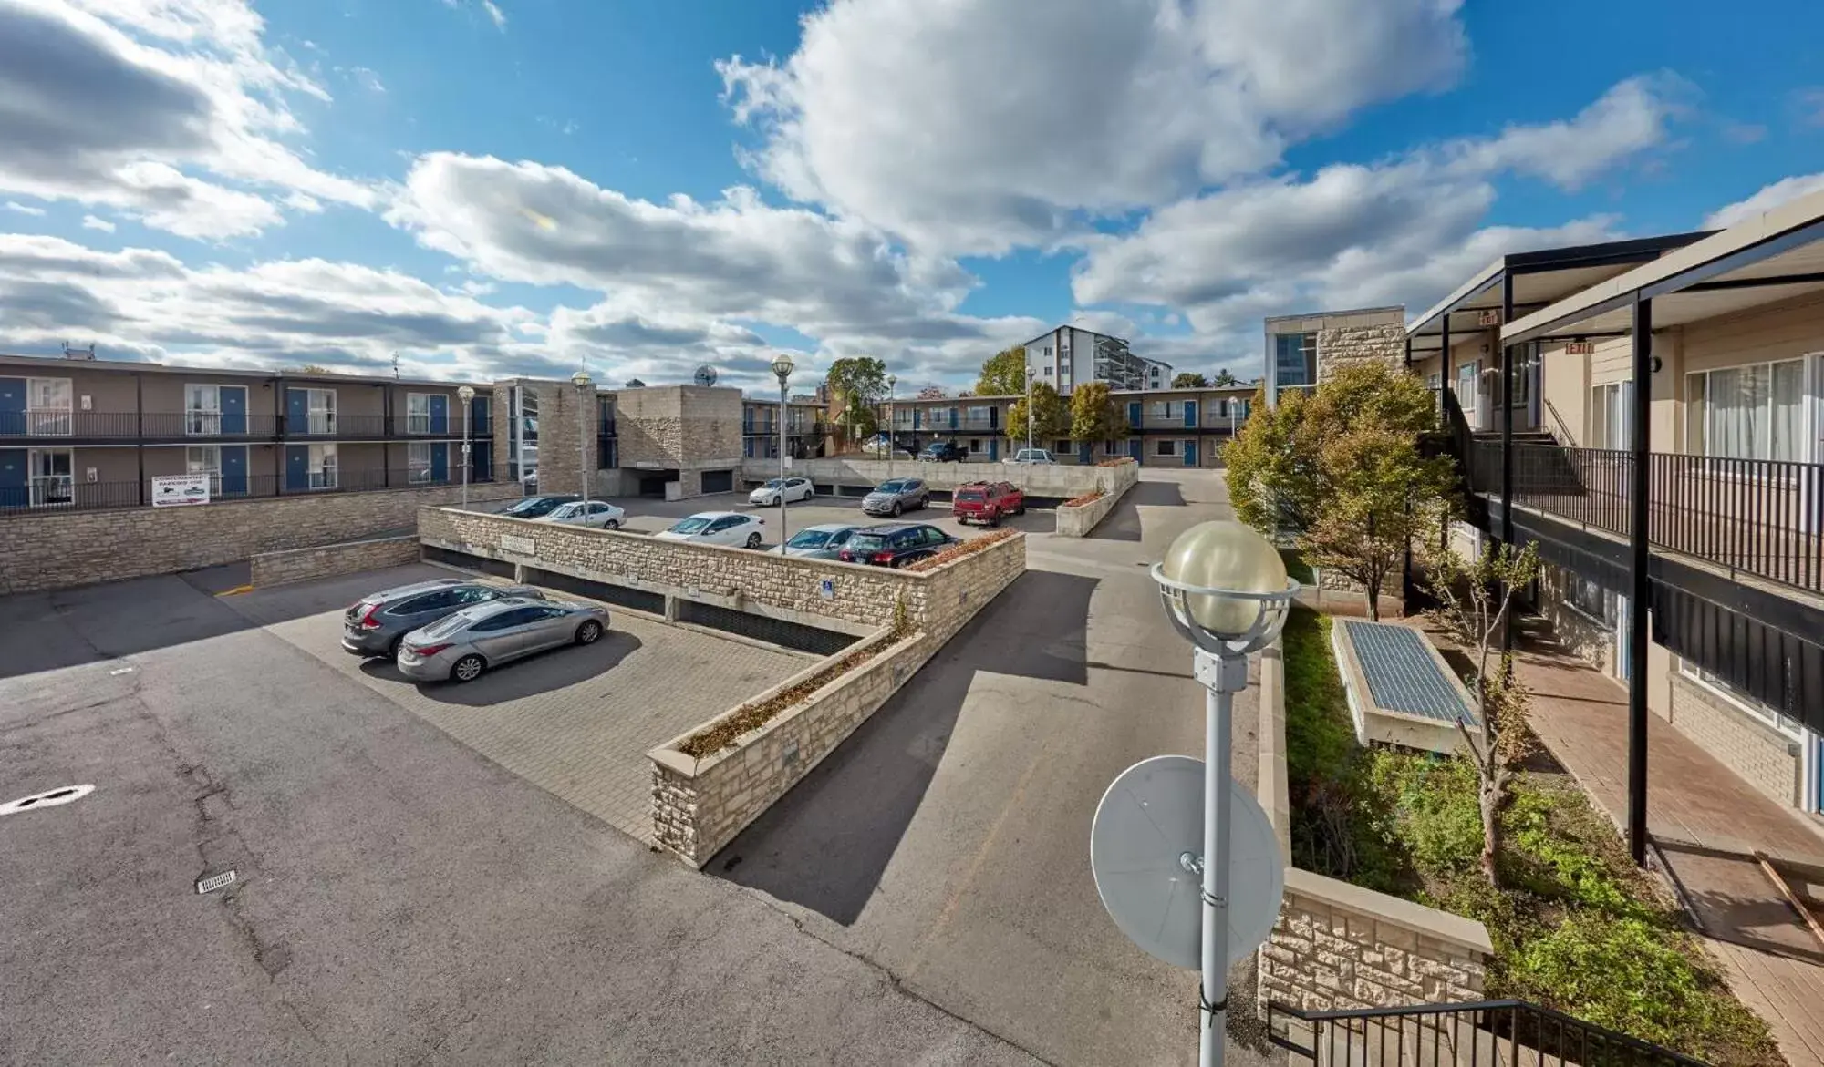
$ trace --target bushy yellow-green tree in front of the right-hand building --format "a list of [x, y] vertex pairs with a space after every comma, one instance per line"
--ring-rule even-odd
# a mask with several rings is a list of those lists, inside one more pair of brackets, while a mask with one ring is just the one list
[[1448, 457], [1425, 457], [1430, 391], [1383, 364], [1344, 368], [1253, 415], [1222, 459], [1235, 513], [1268, 537], [1291, 534], [1304, 561], [1363, 584], [1381, 617], [1381, 583], [1448, 510]]

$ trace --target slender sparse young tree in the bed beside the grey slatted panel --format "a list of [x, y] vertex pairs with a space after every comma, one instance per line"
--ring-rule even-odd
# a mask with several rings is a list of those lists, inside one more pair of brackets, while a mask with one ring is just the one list
[[[1434, 526], [1435, 530], [1435, 526]], [[1432, 539], [1437, 543], [1439, 539]], [[1532, 694], [1514, 676], [1512, 657], [1496, 650], [1501, 628], [1512, 610], [1514, 592], [1539, 574], [1536, 544], [1514, 550], [1492, 544], [1476, 563], [1465, 563], [1452, 548], [1430, 554], [1426, 586], [1437, 599], [1432, 619], [1441, 623], [1476, 663], [1466, 679], [1481, 739], [1459, 719], [1457, 734], [1476, 767], [1476, 799], [1481, 808], [1481, 870], [1488, 885], [1499, 889], [1496, 858], [1501, 854], [1501, 812], [1512, 801], [1514, 768], [1532, 750], [1527, 705]]]

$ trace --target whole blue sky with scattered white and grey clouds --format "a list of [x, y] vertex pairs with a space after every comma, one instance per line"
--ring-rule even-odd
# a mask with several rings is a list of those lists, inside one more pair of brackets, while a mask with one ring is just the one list
[[0, 0], [0, 351], [967, 388], [1824, 189], [1813, 0]]

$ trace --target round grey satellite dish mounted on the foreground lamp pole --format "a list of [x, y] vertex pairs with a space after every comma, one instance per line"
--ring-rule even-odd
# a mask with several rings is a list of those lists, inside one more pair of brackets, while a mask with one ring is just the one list
[[[1102, 907], [1149, 956], [1202, 967], [1202, 878], [1180, 861], [1204, 852], [1204, 761], [1155, 756], [1124, 770], [1096, 805], [1089, 867]], [[1259, 801], [1229, 783], [1229, 963], [1273, 932], [1286, 859]]]

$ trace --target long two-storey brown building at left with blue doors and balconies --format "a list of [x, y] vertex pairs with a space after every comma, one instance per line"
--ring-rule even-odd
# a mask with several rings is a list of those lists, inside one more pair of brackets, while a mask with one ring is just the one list
[[[463, 433], [487, 439], [491, 390], [343, 373], [239, 371], [0, 355], [0, 510], [150, 501], [159, 475], [212, 497], [461, 481]], [[492, 450], [471, 481], [491, 481]]]

